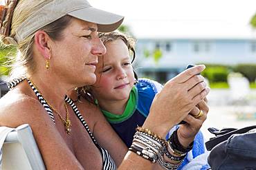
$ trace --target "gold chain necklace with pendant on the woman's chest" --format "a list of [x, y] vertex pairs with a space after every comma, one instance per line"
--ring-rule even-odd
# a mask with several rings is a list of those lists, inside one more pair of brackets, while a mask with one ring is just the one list
[[[42, 93], [39, 91], [39, 89], [37, 88], [37, 86], [35, 85], [35, 83], [33, 83], [31, 80], [29, 80], [32, 85], [35, 87], [35, 89], [37, 89], [37, 92], [39, 92], [39, 94], [41, 94], [42, 98], [44, 98], [44, 96], [42, 95]], [[48, 101], [46, 100], [46, 98], [44, 98], [44, 100], [46, 101], [46, 103], [49, 105], [49, 107], [51, 107], [51, 109], [53, 111], [55, 111], [55, 113], [57, 114], [57, 116], [59, 116], [60, 120], [62, 121], [62, 123], [64, 124], [64, 127], [66, 129], [66, 134], [71, 134], [71, 120], [69, 119], [69, 113], [68, 113], [68, 107], [66, 106], [66, 102], [64, 101], [64, 107], [65, 107], [65, 111], [66, 111], [66, 119], [64, 119], [60, 113], [50, 104], [48, 103]]]

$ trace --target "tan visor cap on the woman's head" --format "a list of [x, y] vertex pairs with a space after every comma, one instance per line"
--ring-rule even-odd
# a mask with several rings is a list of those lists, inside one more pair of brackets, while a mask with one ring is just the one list
[[19, 25], [15, 40], [20, 42], [45, 25], [67, 14], [83, 21], [96, 23], [99, 32], [116, 30], [124, 19], [118, 14], [93, 8], [86, 0], [53, 0], [33, 12], [28, 19]]

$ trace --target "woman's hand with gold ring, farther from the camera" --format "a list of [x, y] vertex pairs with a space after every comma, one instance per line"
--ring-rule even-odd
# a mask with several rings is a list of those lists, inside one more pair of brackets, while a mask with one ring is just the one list
[[[203, 111], [201, 116], [200, 110]], [[188, 147], [194, 140], [194, 137], [199, 132], [203, 122], [206, 120], [209, 107], [207, 105], [207, 99], [202, 100], [196, 107], [190, 111], [190, 114], [184, 118], [185, 124], [180, 125], [178, 129], [179, 142], [183, 147]], [[199, 116], [199, 117], [197, 117]], [[196, 118], [197, 117], [197, 118]]]

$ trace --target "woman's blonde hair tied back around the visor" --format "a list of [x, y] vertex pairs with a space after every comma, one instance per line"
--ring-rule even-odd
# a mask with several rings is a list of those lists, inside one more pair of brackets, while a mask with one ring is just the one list
[[[26, 37], [23, 41], [17, 43], [13, 37], [19, 25], [26, 21], [34, 11], [53, 0], [19, 0], [12, 15], [10, 35], [1, 34], [1, 41], [6, 45], [15, 45], [17, 47], [17, 56], [8, 57], [8, 67], [11, 67], [9, 80], [14, 78], [26, 77], [35, 72], [37, 67], [33, 59], [33, 44], [35, 43], [35, 32]], [[7, 17], [7, 16], [6, 16]], [[62, 38], [62, 30], [66, 28], [72, 17], [64, 16], [53, 23], [50, 23], [40, 30], [44, 30], [52, 39]]]

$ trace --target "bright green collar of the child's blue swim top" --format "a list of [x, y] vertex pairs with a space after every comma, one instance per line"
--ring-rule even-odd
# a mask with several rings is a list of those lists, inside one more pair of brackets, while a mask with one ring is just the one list
[[138, 100], [138, 92], [137, 92], [137, 88], [134, 86], [131, 89], [131, 93], [130, 93], [127, 105], [125, 107], [125, 111], [122, 114], [120, 115], [112, 114], [109, 111], [103, 110], [103, 109], [102, 109], [102, 113], [107, 118], [109, 123], [121, 123], [127, 120], [128, 118], [130, 118], [132, 114], [134, 114], [134, 110], [136, 109], [136, 105], [137, 105], [137, 100]]

